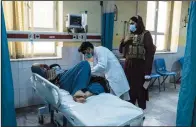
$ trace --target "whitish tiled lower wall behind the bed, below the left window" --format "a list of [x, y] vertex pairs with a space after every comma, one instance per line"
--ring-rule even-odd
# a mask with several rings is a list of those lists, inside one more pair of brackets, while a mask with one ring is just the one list
[[12, 78], [14, 84], [15, 108], [27, 107], [44, 103], [36, 95], [31, 84], [31, 66], [33, 63], [45, 63], [51, 65], [59, 64], [64, 69], [69, 69], [81, 60], [77, 47], [65, 47], [62, 49], [62, 59], [54, 60], [31, 60], [31, 61], [12, 61]]

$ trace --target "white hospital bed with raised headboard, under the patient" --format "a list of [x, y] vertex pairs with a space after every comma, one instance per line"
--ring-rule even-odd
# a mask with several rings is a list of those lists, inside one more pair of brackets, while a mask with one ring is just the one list
[[[58, 88], [39, 74], [32, 74], [36, 93], [48, 104], [51, 122], [54, 112], [61, 113], [72, 126], [142, 126], [142, 109], [117, 96], [103, 93], [77, 103], [69, 92]], [[65, 123], [66, 124], [66, 123]]]

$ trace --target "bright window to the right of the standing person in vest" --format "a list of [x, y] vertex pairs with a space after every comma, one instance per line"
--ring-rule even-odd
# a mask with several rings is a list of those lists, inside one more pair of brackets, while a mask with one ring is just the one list
[[167, 1], [147, 2], [146, 29], [151, 32], [158, 51], [167, 50], [169, 10], [170, 6]]

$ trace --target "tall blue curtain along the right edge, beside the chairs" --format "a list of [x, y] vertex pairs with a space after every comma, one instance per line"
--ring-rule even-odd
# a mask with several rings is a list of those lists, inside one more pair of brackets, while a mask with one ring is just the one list
[[191, 126], [196, 99], [196, 2], [191, 2], [187, 28], [182, 83], [177, 108], [177, 126]]

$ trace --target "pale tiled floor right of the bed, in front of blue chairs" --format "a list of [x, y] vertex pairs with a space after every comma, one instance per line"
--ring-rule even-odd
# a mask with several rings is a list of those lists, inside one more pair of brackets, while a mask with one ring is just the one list
[[150, 91], [147, 102], [144, 126], [175, 126], [179, 85], [167, 84], [166, 90], [159, 93], [157, 87]]

